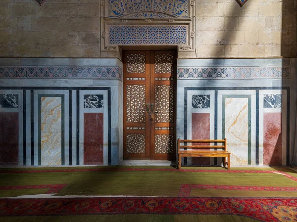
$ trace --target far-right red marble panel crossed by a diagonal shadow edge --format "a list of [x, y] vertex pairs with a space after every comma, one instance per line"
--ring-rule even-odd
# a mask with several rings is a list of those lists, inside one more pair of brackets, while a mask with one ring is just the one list
[[264, 165], [282, 165], [282, 113], [264, 113]]

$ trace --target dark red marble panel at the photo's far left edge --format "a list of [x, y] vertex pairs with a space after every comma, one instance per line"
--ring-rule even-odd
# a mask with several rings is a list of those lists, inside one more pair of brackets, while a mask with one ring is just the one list
[[0, 165], [17, 166], [19, 133], [18, 113], [0, 113]]

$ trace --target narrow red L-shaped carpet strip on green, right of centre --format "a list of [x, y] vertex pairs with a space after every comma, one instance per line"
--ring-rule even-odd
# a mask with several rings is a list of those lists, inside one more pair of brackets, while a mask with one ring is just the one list
[[178, 197], [189, 197], [192, 189], [216, 189], [216, 190], [248, 190], [248, 191], [297, 191], [297, 187], [290, 186], [231, 186], [208, 184], [182, 184]]

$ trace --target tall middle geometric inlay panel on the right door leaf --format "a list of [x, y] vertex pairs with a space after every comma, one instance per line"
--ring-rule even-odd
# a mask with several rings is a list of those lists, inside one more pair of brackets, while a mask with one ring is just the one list
[[155, 86], [155, 122], [173, 123], [173, 87]]

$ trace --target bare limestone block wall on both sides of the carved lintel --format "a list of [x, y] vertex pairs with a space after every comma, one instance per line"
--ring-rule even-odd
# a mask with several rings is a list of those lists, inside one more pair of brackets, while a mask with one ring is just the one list
[[[196, 57], [297, 55], [297, 0], [195, 4]], [[0, 0], [0, 57], [98, 58], [100, 10], [100, 0]]]

